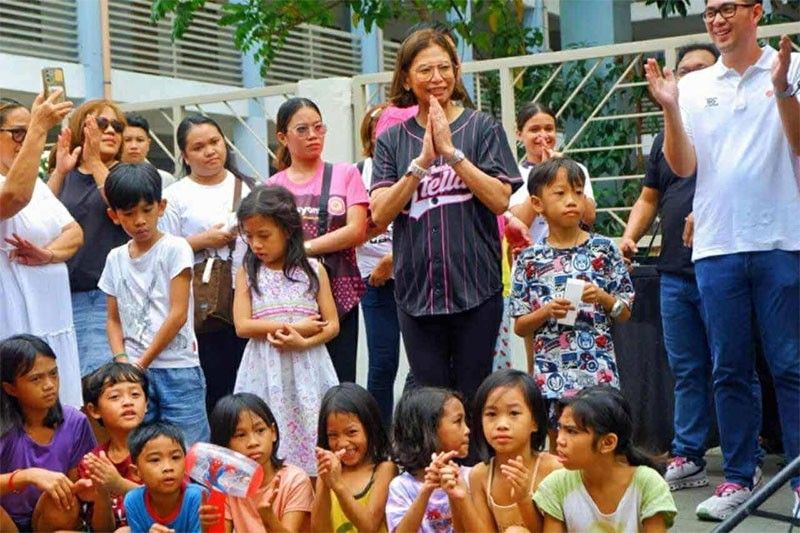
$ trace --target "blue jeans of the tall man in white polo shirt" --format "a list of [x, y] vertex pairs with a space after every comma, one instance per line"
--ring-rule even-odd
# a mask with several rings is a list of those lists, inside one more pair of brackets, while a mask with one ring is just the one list
[[[714, 357], [716, 401], [725, 479], [752, 485], [760, 402], [752, 394], [753, 321], [775, 382], [783, 448], [800, 454], [800, 252], [771, 250], [701, 259], [697, 286]], [[792, 479], [792, 488], [800, 477]]]

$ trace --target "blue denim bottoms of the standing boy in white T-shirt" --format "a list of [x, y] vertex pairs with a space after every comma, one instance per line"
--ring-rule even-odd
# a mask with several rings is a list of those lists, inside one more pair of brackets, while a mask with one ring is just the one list
[[145, 422], [168, 422], [183, 433], [188, 448], [208, 442], [211, 431], [206, 414], [206, 380], [199, 366], [148, 368]]

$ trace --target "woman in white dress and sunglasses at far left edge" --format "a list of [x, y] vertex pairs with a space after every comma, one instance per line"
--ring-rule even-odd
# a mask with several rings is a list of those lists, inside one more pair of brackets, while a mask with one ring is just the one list
[[0, 339], [42, 337], [58, 354], [61, 401], [81, 407], [78, 345], [66, 260], [83, 231], [38, 179], [47, 132], [72, 109], [59, 94], [39, 95], [30, 111], [0, 99]]

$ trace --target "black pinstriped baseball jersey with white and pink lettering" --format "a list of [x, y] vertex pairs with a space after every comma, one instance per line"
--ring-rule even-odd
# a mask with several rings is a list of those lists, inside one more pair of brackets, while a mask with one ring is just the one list
[[[453, 144], [489, 176], [522, 184], [497, 121], [464, 109], [450, 124]], [[371, 191], [402, 178], [422, 151], [425, 130], [412, 117], [378, 138]], [[497, 217], [439, 157], [394, 221], [397, 304], [412, 316], [460, 313], [502, 290]]]

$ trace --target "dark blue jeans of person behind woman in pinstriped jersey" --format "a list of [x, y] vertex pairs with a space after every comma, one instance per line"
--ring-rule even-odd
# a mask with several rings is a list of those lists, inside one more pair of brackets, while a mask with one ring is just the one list
[[364, 324], [367, 330], [369, 371], [367, 389], [378, 402], [381, 420], [388, 431], [392, 427], [394, 409], [394, 380], [400, 362], [400, 324], [394, 299], [394, 280], [382, 287], [367, 283], [361, 297]]

